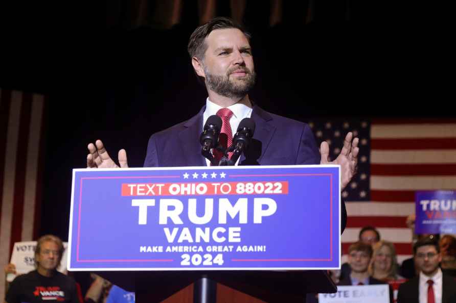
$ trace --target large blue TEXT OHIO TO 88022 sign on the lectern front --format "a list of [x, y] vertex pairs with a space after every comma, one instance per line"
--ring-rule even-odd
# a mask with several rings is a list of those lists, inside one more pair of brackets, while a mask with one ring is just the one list
[[74, 169], [70, 270], [336, 269], [338, 165]]

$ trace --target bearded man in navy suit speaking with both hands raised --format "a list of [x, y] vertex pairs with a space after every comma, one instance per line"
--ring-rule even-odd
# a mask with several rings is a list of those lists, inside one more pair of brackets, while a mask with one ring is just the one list
[[[251, 118], [255, 134], [248, 150], [236, 165], [339, 164], [341, 189], [356, 173], [358, 138], [347, 134], [339, 156], [329, 162], [329, 145], [322, 142], [320, 153], [309, 125], [262, 110], [248, 97], [255, 84], [255, 66], [250, 35], [233, 20], [211, 19], [190, 37], [188, 51], [198, 78], [208, 91], [206, 106], [187, 121], [153, 134], [147, 146], [145, 167], [206, 166], [201, 155], [200, 134], [208, 117], [222, 119], [220, 144], [229, 147], [240, 121]], [[224, 140], [222, 138], [225, 138]], [[87, 167], [119, 167], [108, 155], [101, 140], [88, 145]], [[217, 153], [212, 153], [218, 160]], [[230, 153], [231, 154], [231, 153]], [[118, 155], [120, 167], [128, 167], [124, 149]], [[347, 221], [341, 205], [341, 231]]]

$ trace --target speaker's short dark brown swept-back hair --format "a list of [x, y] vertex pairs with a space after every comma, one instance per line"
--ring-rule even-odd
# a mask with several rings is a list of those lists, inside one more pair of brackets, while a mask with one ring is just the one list
[[208, 23], [198, 27], [190, 36], [189, 44], [187, 46], [190, 58], [196, 57], [199, 60], [203, 60], [204, 53], [206, 53], [206, 50], [208, 49], [208, 44], [204, 42], [204, 39], [206, 39], [212, 31], [222, 29], [238, 29], [244, 33], [248, 40], [250, 39], [250, 34], [247, 33], [240, 24], [230, 18], [215, 17], [209, 20]]

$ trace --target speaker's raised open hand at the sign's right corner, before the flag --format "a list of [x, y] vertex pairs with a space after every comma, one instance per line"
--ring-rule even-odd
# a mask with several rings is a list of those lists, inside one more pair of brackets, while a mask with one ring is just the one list
[[341, 173], [341, 189], [344, 189], [356, 174], [358, 168], [358, 138], [353, 139], [353, 133], [349, 132], [345, 137], [344, 147], [342, 148], [336, 160], [329, 162], [329, 145], [323, 141], [320, 145], [320, 154], [322, 160], [320, 164], [336, 164], [340, 165]]

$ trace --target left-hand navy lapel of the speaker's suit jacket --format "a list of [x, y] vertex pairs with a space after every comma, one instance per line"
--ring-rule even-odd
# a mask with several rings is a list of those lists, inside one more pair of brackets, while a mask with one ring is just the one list
[[184, 123], [184, 130], [178, 134], [180, 144], [184, 150], [186, 165], [206, 166], [206, 160], [201, 155], [201, 144], [199, 135], [202, 132], [202, 115], [204, 106], [199, 113]]

